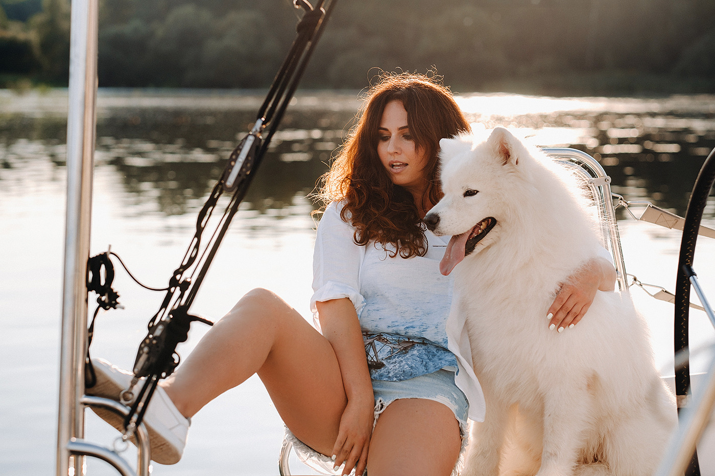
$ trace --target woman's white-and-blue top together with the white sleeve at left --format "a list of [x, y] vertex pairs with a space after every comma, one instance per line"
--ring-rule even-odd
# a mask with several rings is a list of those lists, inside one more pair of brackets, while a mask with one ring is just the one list
[[358, 246], [354, 233], [335, 204], [327, 207], [315, 242], [313, 312], [316, 301], [352, 300], [373, 380], [456, 372], [445, 331], [453, 283], [439, 271], [447, 243], [425, 231], [427, 254], [404, 259], [390, 257], [381, 244]]

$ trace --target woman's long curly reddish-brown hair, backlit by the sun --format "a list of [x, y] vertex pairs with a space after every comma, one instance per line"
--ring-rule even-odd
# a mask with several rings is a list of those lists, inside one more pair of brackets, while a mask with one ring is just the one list
[[[441, 76], [386, 73], [379, 76], [365, 97], [358, 122], [350, 129], [345, 144], [322, 177], [318, 198], [327, 206], [342, 201], [341, 217], [355, 227], [355, 243], [371, 241], [395, 247], [390, 256], [424, 256], [423, 211], [441, 198], [438, 178], [440, 139], [469, 131], [469, 124]], [[400, 101], [408, 116], [408, 127], [428, 158], [424, 169], [425, 192], [419, 204], [404, 187], [393, 184], [378, 157], [380, 121], [385, 106]]]

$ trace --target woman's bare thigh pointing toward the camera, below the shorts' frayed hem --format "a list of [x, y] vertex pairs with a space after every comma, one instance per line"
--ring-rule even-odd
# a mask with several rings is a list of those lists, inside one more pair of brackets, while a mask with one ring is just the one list
[[392, 402], [378, 418], [368, 453], [370, 476], [448, 476], [462, 447], [445, 405], [422, 398]]

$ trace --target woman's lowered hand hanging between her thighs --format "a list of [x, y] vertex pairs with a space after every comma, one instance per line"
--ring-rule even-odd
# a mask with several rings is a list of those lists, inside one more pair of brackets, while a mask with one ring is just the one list
[[362, 475], [368, 465], [368, 447], [373, 433], [375, 402], [372, 396], [365, 402], [349, 400], [340, 418], [340, 430], [337, 433], [332, 455], [335, 469], [345, 462], [343, 475], [350, 474], [355, 468], [355, 475]]

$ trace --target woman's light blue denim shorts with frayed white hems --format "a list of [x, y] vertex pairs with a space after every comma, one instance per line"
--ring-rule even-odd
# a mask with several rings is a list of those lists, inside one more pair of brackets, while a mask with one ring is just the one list
[[[446, 405], [454, 413], [459, 423], [460, 436], [462, 437], [462, 449], [459, 459], [455, 465], [453, 475], [457, 475], [464, 463], [464, 449], [467, 445], [467, 414], [469, 404], [467, 397], [455, 385], [454, 372], [449, 370], [438, 370], [427, 375], [420, 375], [408, 380], [391, 382], [388, 380], [373, 380], [373, 392], [375, 392], [375, 422], [385, 411], [390, 403], [400, 398], [424, 398], [434, 400]], [[332, 469], [333, 463], [329, 457], [321, 455], [305, 443], [298, 440], [287, 428], [285, 429], [285, 439], [283, 444], [292, 444], [297, 457], [313, 469], [326, 475], [340, 475], [342, 469], [337, 471]], [[352, 474], [352, 473], [351, 473]]]

